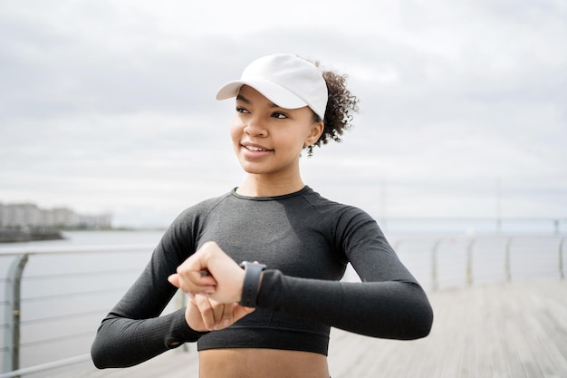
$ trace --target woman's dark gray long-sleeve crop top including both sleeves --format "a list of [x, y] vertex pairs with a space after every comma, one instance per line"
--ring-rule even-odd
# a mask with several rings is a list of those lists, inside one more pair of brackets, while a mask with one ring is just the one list
[[[192, 330], [184, 309], [161, 315], [177, 288], [168, 276], [198, 247], [215, 241], [236, 262], [264, 271], [255, 312], [230, 327]], [[341, 282], [348, 263], [361, 282]], [[279, 197], [235, 190], [183, 211], [130, 290], [101, 323], [91, 347], [99, 368], [141, 363], [197, 342], [198, 350], [255, 347], [327, 354], [330, 327], [392, 339], [426, 336], [428, 298], [359, 208], [309, 187]]]

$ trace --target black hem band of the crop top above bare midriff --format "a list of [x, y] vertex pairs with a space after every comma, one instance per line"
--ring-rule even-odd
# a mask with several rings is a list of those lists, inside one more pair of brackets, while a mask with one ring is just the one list
[[[270, 337], [265, 337], [266, 332]], [[329, 335], [266, 327], [230, 327], [210, 332], [197, 341], [197, 351], [251, 347], [327, 355]]]

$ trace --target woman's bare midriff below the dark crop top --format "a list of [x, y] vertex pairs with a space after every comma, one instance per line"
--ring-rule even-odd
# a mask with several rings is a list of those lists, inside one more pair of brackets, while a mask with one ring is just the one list
[[199, 378], [329, 378], [327, 357], [276, 349], [199, 352]]

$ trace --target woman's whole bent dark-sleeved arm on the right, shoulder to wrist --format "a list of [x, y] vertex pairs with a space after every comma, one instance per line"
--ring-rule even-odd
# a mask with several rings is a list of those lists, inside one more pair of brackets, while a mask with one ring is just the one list
[[312, 280], [266, 271], [258, 305], [374, 337], [428, 335], [433, 322], [428, 297], [376, 221], [354, 207], [344, 207], [334, 219], [334, 245], [344, 251], [362, 282]]

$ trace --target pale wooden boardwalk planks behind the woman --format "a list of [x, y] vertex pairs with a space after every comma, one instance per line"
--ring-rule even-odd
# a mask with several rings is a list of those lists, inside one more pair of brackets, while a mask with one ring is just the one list
[[[333, 329], [332, 378], [567, 377], [567, 281], [485, 284], [428, 295], [435, 322], [425, 339], [380, 340]], [[197, 352], [190, 348], [130, 369], [82, 366], [57, 377], [197, 378]]]

